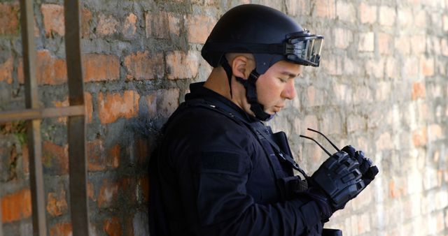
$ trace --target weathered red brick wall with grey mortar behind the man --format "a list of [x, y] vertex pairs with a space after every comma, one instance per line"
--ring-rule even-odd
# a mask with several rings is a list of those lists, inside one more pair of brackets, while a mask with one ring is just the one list
[[[339, 147], [365, 150], [381, 170], [328, 226], [344, 235], [448, 235], [447, 0], [83, 1], [94, 235], [148, 235], [154, 134], [188, 84], [211, 71], [200, 48], [214, 22], [249, 2], [282, 10], [325, 36], [321, 67], [305, 69], [297, 98], [270, 122], [288, 133], [302, 167], [311, 173], [325, 159], [299, 138], [311, 127]], [[0, 110], [25, 108], [18, 11], [17, 0], [0, 0]], [[62, 1], [38, 1], [34, 13], [41, 103], [66, 106]], [[71, 233], [65, 133], [66, 119], [42, 121], [49, 235]], [[32, 232], [26, 142], [23, 122], [0, 124], [5, 235]]]

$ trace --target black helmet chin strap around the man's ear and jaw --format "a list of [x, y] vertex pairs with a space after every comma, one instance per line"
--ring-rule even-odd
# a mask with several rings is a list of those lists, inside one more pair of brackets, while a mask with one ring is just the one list
[[[224, 71], [227, 74], [229, 80], [230, 97], [232, 98], [232, 68], [230, 67], [229, 62], [227, 61], [227, 59], [225, 59], [225, 57], [223, 57], [221, 66], [223, 66]], [[257, 71], [253, 69], [247, 80], [236, 76], [235, 78], [238, 82], [243, 84], [244, 88], [246, 89], [247, 102], [251, 104], [251, 110], [253, 114], [255, 114], [255, 117], [260, 121], [269, 121], [269, 119], [272, 119], [275, 115], [269, 115], [268, 113], [266, 113], [263, 105], [258, 103], [257, 87], [255, 86], [255, 82], [257, 82], [259, 76], [260, 74], [258, 74]]]

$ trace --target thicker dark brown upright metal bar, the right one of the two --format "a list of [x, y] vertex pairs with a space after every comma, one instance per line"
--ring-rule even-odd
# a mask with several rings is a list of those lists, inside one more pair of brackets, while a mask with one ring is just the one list
[[[84, 105], [83, 70], [80, 53], [80, 4], [64, 0], [65, 52], [69, 75], [70, 105]], [[73, 235], [89, 234], [87, 207], [87, 164], [85, 155], [85, 117], [69, 117], [69, 179]]]

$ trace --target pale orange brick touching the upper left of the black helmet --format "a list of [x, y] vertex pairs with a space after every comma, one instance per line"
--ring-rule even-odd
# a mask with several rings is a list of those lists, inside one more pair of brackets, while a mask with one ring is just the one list
[[189, 15], [187, 18], [188, 42], [205, 43], [216, 20], [208, 15]]

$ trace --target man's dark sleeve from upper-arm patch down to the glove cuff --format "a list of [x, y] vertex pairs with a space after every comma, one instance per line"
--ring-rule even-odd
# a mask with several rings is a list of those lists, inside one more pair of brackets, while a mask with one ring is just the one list
[[251, 158], [237, 149], [200, 154], [197, 215], [202, 235], [321, 235], [314, 201], [297, 198], [260, 205], [246, 191]]

